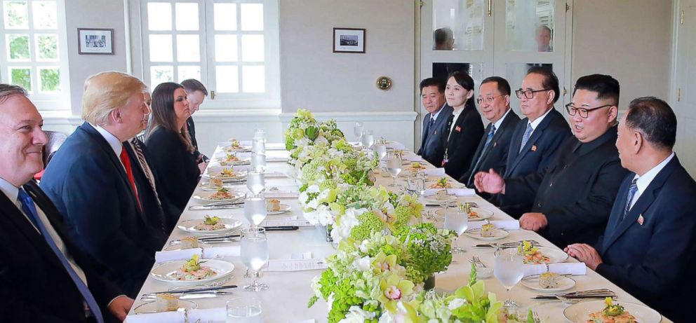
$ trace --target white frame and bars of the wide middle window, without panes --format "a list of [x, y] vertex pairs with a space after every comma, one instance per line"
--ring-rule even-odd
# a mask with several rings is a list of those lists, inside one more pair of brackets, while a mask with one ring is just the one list
[[[201, 55], [201, 82], [206, 85], [209, 95], [205, 104], [201, 106], [203, 111], [215, 110], [279, 110], [280, 109], [280, 55], [279, 55], [279, 12], [278, 0], [129, 0], [130, 27], [131, 27], [131, 67], [133, 75], [142, 79], [150, 90], [154, 86], [150, 84], [150, 67], [156, 65], [171, 65], [174, 68], [174, 81], [178, 79], [177, 68], [180, 65], [188, 65], [187, 62], [176, 62], [176, 44], [173, 45], [173, 57], [175, 62], [150, 63], [149, 62], [149, 34], [172, 34], [175, 38], [177, 34], [196, 34], [188, 31], [166, 31], [151, 32], [147, 30], [147, 3], [166, 2], [172, 4], [173, 29], [175, 29], [175, 4], [176, 3], [196, 3], [199, 4], [199, 31], [200, 35], [200, 55]], [[238, 93], [219, 93], [215, 84], [215, 29], [213, 4], [232, 3], [237, 4], [237, 21], [240, 23], [241, 4], [263, 4], [264, 6], [264, 30], [262, 32], [217, 32], [217, 34], [236, 34], [238, 35], [238, 61], [223, 62], [219, 65], [236, 65], [239, 67], [239, 90]], [[238, 28], [239, 29], [239, 28]], [[241, 62], [241, 35], [242, 34], [263, 34], [264, 35], [264, 62]], [[265, 92], [249, 93], [241, 92], [241, 67], [242, 65], [259, 65], [265, 67]], [[213, 91], [215, 97], [213, 98]]]

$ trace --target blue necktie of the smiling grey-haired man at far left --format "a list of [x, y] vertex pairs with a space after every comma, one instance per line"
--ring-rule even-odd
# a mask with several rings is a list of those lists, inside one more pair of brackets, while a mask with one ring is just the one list
[[20, 188], [17, 198], [22, 203], [22, 211], [24, 211], [25, 214], [29, 216], [29, 219], [32, 220], [34, 226], [36, 226], [36, 228], [39, 229], [41, 235], [43, 235], [46, 242], [48, 242], [48, 246], [51, 247], [51, 250], [53, 250], [55, 256], [58, 256], [58, 259], [60, 259], [60, 263], [62, 263], [63, 267], [70, 275], [70, 278], [72, 278], [72, 281], [77, 286], [77, 289], [79, 289], [80, 294], [82, 294], [82, 297], [89, 306], [89, 309], [92, 311], [94, 317], [97, 319], [97, 322], [104, 323], [102, 311], [99, 309], [99, 305], [97, 304], [97, 301], [94, 299], [94, 296], [92, 296], [92, 293], [87, 288], [87, 285], [80, 279], [77, 273], [75, 273], [75, 270], [73, 270], [72, 266], [70, 266], [70, 263], [68, 263], [67, 259], [65, 258], [65, 255], [62, 252], [60, 252], [58, 246], [55, 245], [55, 241], [53, 241], [53, 238], [51, 238], [51, 235], [48, 233], [48, 230], [46, 230], [44, 222], [42, 222], [39, 219], [39, 215], [36, 213], [36, 207], [34, 206], [34, 200], [32, 200], [29, 194], [27, 194], [27, 192], [24, 191], [22, 188]]

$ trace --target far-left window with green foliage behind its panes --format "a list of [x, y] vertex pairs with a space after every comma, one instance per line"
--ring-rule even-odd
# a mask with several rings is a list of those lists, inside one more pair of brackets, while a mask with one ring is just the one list
[[1, 0], [0, 81], [27, 89], [41, 110], [69, 110], [62, 0]]

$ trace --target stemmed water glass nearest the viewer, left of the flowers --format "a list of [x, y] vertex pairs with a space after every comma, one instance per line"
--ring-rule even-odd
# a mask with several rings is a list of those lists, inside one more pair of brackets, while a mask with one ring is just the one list
[[254, 282], [244, 287], [246, 291], [264, 291], [267, 284], [258, 282], [259, 270], [268, 261], [268, 242], [266, 229], [261, 227], [243, 228], [241, 230], [241, 262], [255, 273]]

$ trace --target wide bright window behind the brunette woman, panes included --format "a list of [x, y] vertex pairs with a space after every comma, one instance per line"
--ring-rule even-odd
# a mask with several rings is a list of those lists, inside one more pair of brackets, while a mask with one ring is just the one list
[[142, 78], [200, 80], [203, 109], [279, 108], [277, 0], [141, 0]]

